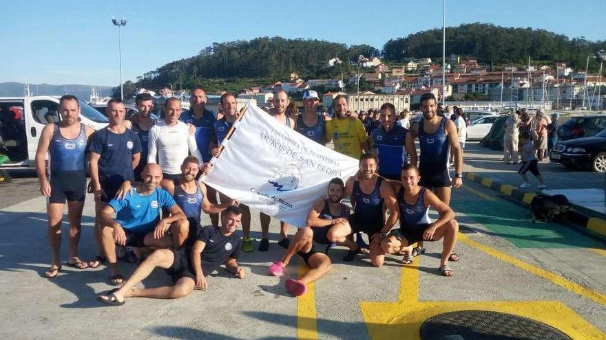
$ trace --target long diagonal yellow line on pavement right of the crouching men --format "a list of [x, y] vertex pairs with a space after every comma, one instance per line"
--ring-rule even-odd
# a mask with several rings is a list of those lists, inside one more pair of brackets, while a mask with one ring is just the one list
[[502, 253], [501, 251], [498, 251], [497, 249], [492, 249], [491, 247], [488, 247], [479, 242], [471, 240], [464, 234], [459, 234], [459, 240], [463, 243], [466, 243], [467, 245], [470, 245], [476, 249], [479, 249], [485, 253], [488, 253], [488, 255], [493, 256], [494, 258], [498, 258], [501, 261], [505, 261], [510, 264], [513, 264], [514, 266], [516, 266], [520, 269], [523, 269], [525, 271], [528, 271], [536, 276], [543, 277], [546, 280], [550, 280], [554, 284], [557, 284], [558, 286], [566, 288], [567, 290], [572, 291], [573, 293], [576, 293], [583, 297], [587, 297], [587, 299], [592, 299], [594, 302], [597, 302], [598, 304], [603, 304], [606, 306], [606, 296], [605, 295], [602, 295], [596, 291], [593, 291], [592, 289], [589, 289], [585, 286], [581, 286], [581, 284], [577, 284], [570, 280], [566, 280], [565, 278], [558, 276], [554, 273], [551, 273], [550, 271], [546, 271], [545, 269], [541, 269], [539, 267], [534, 267], [532, 264], [527, 264], [526, 262], [518, 260], [518, 259], [514, 258], [513, 256], [509, 256], [505, 253]]

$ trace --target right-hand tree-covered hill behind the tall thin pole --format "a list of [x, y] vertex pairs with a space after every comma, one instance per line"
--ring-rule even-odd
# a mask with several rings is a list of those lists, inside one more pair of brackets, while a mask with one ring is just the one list
[[[499, 27], [489, 23], [469, 23], [446, 27], [446, 55], [477, 58], [486, 65], [508, 65], [562, 61], [575, 68], [585, 68], [588, 54], [606, 49], [606, 41], [585, 38], [572, 40], [563, 34], [532, 28]], [[442, 30], [434, 29], [388, 41], [383, 47], [386, 60], [403, 61], [409, 57], [441, 58]], [[595, 67], [598, 63], [593, 63]]]

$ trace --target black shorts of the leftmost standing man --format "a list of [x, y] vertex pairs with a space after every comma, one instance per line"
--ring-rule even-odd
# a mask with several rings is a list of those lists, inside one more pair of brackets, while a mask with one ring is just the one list
[[86, 172], [70, 171], [52, 174], [50, 177], [50, 197], [48, 203], [84, 201], [86, 196]]

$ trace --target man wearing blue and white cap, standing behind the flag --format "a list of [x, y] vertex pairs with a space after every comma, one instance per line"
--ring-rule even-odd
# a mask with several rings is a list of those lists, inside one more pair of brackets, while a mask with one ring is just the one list
[[330, 120], [330, 117], [325, 118], [317, 113], [316, 109], [319, 103], [320, 98], [318, 98], [316, 91], [307, 90], [303, 93], [304, 111], [297, 118], [295, 130], [316, 143], [324, 145], [326, 120]]

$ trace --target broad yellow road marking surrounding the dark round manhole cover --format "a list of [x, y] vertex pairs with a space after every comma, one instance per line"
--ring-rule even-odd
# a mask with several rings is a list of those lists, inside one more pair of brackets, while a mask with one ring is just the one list
[[[419, 302], [419, 260], [402, 268], [397, 302], [360, 302], [370, 339], [420, 339], [421, 324], [456, 310], [492, 310], [554, 326], [573, 339], [603, 339], [604, 333], [558, 301]], [[456, 275], [456, 273], [455, 273]], [[450, 280], [444, 277], [444, 280]]]

